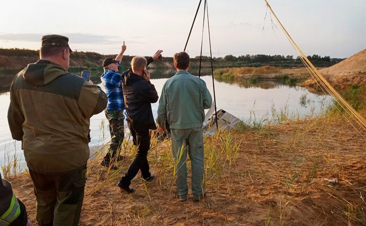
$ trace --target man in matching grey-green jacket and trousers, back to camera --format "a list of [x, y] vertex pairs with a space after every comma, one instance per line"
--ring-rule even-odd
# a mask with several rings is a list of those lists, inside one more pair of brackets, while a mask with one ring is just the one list
[[165, 131], [165, 119], [170, 126], [178, 200], [187, 200], [188, 152], [192, 164], [193, 199], [199, 201], [205, 194], [202, 131], [204, 109], [211, 107], [212, 97], [206, 82], [187, 71], [190, 56], [186, 52], [175, 53], [173, 60], [177, 72], [162, 88], [156, 122], [159, 124], [159, 132]]

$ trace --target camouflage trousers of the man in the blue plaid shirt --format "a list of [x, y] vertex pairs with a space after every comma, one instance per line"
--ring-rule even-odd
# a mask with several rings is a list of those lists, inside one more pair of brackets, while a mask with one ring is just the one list
[[123, 110], [104, 110], [105, 116], [109, 121], [109, 132], [111, 141], [104, 161], [110, 162], [112, 158], [118, 156], [121, 152], [121, 145], [124, 138], [124, 115]]

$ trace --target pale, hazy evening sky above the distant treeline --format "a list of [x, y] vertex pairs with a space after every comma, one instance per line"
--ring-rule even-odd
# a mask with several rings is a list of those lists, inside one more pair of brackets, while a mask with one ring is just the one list
[[[200, 0], [0, 0], [0, 47], [39, 49], [45, 34], [69, 37], [75, 51], [163, 56], [184, 50]], [[187, 46], [210, 55], [204, 2]], [[298, 54], [264, 0], [208, 0], [213, 56]], [[268, 0], [305, 55], [349, 57], [366, 48], [364, 0]], [[272, 19], [271, 19], [272, 18]], [[273, 20], [273, 22], [272, 22]]]

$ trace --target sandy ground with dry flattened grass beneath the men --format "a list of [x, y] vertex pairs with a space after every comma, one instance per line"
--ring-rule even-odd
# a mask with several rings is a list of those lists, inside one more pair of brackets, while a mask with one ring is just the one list
[[[80, 225], [366, 224], [366, 147], [345, 119], [334, 114], [246, 129], [205, 137], [202, 202], [177, 202], [169, 140], [152, 139], [156, 180], [144, 183], [138, 174], [132, 194], [115, 185], [134, 156], [130, 143], [118, 170], [90, 161]], [[29, 175], [10, 180], [36, 223]]]

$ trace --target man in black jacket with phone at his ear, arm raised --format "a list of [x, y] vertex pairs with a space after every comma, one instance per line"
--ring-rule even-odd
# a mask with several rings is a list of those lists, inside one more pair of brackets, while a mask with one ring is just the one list
[[149, 129], [156, 129], [151, 110], [151, 103], [158, 100], [155, 86], [150, 82], [150, 72], [146, 70], [148, 62], [159, 59], [162, 50], [148, 58], [135, 56], [131, 61], [131, 69], [122, 73], [122, 90], [125, 108], [127, 112], [128, 128], [133, 138], [133, 144], [137, 146], [137, 153], [128, 168], [125, 176], [122, 176], [118, 186], [127, 192], [133, 192], [130, 188], [131, 180], [141, 170], [141, 177], [146, 181], [154, 179], [150, 173], [147, 162], [147, 151], [150, 149]]

